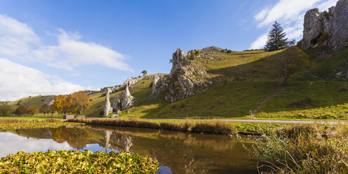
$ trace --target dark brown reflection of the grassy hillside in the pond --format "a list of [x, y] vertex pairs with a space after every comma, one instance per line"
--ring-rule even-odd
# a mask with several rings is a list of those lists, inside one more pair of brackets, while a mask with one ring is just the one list
[[[232, 138], [222, 135], [111, 126], [88, 128], [100, 131], [100, 134], [105, 130], [112, 131], [109, 148], [149, 156], [159, 161], [160, 166], [168, 166], [173, 173], [257, 172], [256, 163], [248, 152], [244, 152], [243, 147]], [[100, 145], [106, 144], [102, 141]]]

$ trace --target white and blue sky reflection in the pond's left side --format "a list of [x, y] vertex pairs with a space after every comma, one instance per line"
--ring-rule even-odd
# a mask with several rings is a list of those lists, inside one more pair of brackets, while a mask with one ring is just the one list
[[[74, 148], [70, 147], [67, 142], [58, 143], [52, 139], [36, 139], [36, 138], [25, 138], [20, 135], [15, 135], [13, 133], [4, 133], [0, 132], [0, 158], [5, 157], [8, 154], [15, 154], [17, 152], [47, 152], [48, 149], [53, 150], [74, 150]], [[97, 152], [104, 150], [105, 148], [101, 147], [98, 144], [88, 144], [80, 151], [84, 149], [91, 150], [92, 152]], [[108, 152], [116, 151], [115, 149], [108, 149]], [[170, 168], [167, 166], [160, 166], [159, 172], [156, 174], [170, 174], [172, 173]]]

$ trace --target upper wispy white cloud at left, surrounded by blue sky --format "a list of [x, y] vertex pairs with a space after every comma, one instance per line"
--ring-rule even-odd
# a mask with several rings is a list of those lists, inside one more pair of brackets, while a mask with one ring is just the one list
[[72, 70], [83, 65], [102, 65], [133, 71], [123, 60], [125, 55], [101, 44], [81, 41], [78, 33], [58, 29], [58, 45], [42, 43], [39, 36], [25, 23], [0, 15], [0, 54], [6, 58], [39, 61], [51, 67]]

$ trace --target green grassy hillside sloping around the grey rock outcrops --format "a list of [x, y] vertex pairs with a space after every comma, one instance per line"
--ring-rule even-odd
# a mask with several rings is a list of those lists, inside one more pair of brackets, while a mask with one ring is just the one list
[[[279, 58], [307, 60], [286, 85], [279, 74]], [[347, 119], [348, 82], [334, 79], [336, 69], [348, 62], [348, 48], [334, 54], [328, 48], [302, 51], [293, 47], [266, 52], [208, 51], [208, 58], [194, 60], [208, 69], [214, 83], [203, 93], [178, 102], [148, 100], [152, 75], [130, 88], [135, 107], [121, 112], [131, 118], [271, 118]], [[112, 93], [119, 95], [124, 90]], [[92, 107], [83, 114], [102, 116], [106, 91], [90, 95]], [[42, 101], [44, 100], [44, 101]], [[22, 103], [42, 105], [46, 96], [22, 99]], [[48, 101], [49, 102], [49, 101]], [[11, 102], [15, 107], [18, 101]], [[257, 112], [255, 112], [257, 111]], [[253, 114], [252, 114], [253, 113]]]

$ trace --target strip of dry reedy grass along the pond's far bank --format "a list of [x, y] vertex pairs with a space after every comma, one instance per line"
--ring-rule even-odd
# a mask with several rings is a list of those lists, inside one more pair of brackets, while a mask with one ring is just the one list
[[100, 126], [125, 126], [187, 133], [213, 135], [261, 135], [264, 130], [288, 126], [283, 123], [239, 123], [204, 120], [149, 120], [149, 119], [68, 119], [67, 122]]

